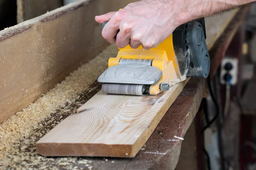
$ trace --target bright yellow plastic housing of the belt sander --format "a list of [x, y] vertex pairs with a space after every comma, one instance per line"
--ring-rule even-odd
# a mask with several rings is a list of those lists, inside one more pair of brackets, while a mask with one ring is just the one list
[[117, 56], [108, 60], [108, 67], [118, 65], [120, 59], [152, 60], [151, 65], [163, 72], [160, 79], [150, 86], [149, 92], [152, 95], [161, 92], [161, 84], [174, 85], [181, 81], [180, 70], [173, 49], [172, 35], [157, 48], [151, 48], [150, 50], [143, 49], [142, 45], [137, 49], [131, 48], [130, 45], [119, 48]]

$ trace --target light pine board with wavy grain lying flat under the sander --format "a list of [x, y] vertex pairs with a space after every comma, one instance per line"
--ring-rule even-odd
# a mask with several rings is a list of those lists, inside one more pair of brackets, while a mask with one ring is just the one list
[[[220, 34], [236, 12], [222, 20]], [[212, 23], [215, 17], [209, 20]], [[215, 41], [212, 32], [216, 35], [216, 31], [207, 31], [207, 37]], [[208, 44], [212, 41], [208, 40]], [[79, 113], [69, 116], [40, 139], [37, 150], [44, 156], [134, 157], [186, 82], [157, 96], [106, 95], [99, 91]]]

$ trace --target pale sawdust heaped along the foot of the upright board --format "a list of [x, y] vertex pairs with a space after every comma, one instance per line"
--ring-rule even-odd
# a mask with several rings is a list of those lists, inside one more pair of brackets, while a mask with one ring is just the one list
[[[84, 164], [87, 169], [93, 169], [89, 166], [91, 161], [87, 159], [41, 156], [36, 152], [35, 142], [71, 113], [76, 113], [76, 109], [84, 104], [80, 99], [81, 93], [93, 85], [107, 68], [108, 58], [116, 56], [117, 50], [116, 45], [110, 45], [102, 54], [82, 65], [47, 94], [0, 125], [0, 169], [58, 169], [56, 166], [61, 166], [61, 169], [81, 169]], [[90, 91], [84, 95], [88, 93]], [[79, 99], [82, 102], [78, 102]], [[74, 167], [74, 162], [83, 166]]]

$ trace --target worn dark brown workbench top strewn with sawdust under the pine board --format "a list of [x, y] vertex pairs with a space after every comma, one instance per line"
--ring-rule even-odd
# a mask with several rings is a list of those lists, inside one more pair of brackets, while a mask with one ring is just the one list
[[[226, 48], [222, 47], [229, 44], [234, 32], [241, 25], [240, 20], [244, 19], [246, 10], [242, 8], [236, 14], [224, 31], [225, 35], [221, 35], [219, 40], [212, 45], [214, 51], [210, 51], [211, 56], [224, 54]], [[217, 47], [221, 47], [223, 51], [216, 50], [219, 49]], [[67, 116], [76, 113], [81, 105], [100, 90], [101, 84], [96, 82], [96, 77], [105, 70], [102, 65], [107, 63], [109, 57], [116, 54], [116, 50], [113, 45], [108, 47], [105, 52], [67, 77], [64, 83], [58, 84], [37, 102], [0, 125], [0, 169], [17, 167], [73, 170], [175, 169], [182, 143], [182, 140], [175, 136], [184, 137], [191, 125], [201, 99], [205, 95], [204, 80], [189, 80], [145, 146], [133, 159], [44, 157], [36, 152], [35, 142]], [[212, 61], [215, 61], [214, 59]], [[98, 67], [95, 67], [95, 64]], [[212, 68], [214, 71], [216, 66], [213, 65]], [[79, 92], [81, 89], [86, 90]], [[52, 94], [55, 96], [51, 96]], [[65, 101], [64, 105], [59, 102], [60, 100]], [[52, 103], [56, 106], [55, 108], [49, 107]]]

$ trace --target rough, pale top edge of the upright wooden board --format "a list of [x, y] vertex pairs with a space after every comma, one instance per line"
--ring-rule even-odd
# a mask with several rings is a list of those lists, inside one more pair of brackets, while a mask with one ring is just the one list
[[15, 26], [5, 28], [4, 30], [0, 31], [0, 42], [26, 31], [27, 29], [31, 28], [38, 22], [47, 22], [47, 21], [55, 20], [59, 17], [62, 17], [65, 14], [69, 14], [70, 12], [75, 11], [78, 8], [87, 6], [89, 5], [90, 1], [91, 0], [80, 0], [75, 3], [70, 3], [66, 6], [62, 6], [55, 10], [49, 11], [46, 14], [40, 15], [30, 20], [26, 20]]

